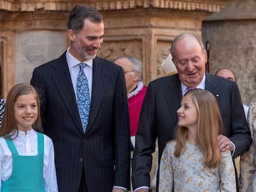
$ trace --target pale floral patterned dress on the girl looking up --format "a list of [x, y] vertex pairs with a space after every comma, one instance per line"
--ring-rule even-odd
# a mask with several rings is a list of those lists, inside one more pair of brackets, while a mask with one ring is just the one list
[[221, 152], [223, 161], [214, 169], [203, 165], [203, 154], [198, 145], [186, 142], [181, 157], [173, 152], [176, 141], [168, 143], [160, 163], [159, 191], [234, 191], [236, 177], [231, 152]]

